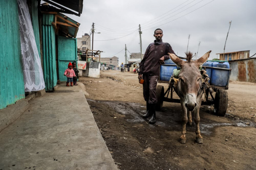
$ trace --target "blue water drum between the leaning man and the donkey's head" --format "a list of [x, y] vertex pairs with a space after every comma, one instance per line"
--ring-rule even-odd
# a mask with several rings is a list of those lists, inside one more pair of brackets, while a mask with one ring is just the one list
[[160, 66], [160, 81], [169, 81], [172, 77], [172, 72], [177, 65], [172, 61], [172, 59], [164, 60], [165, 64]]

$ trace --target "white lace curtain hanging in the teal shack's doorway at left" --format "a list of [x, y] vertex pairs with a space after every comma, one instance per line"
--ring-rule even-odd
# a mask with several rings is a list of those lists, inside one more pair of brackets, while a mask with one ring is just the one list
[[26, 0], [17, 0], [20, 20], [20, 43], [23, 62], [25, 91], [39, 91], [45, 88], [41, 59], [35, 43], [35, 35]]

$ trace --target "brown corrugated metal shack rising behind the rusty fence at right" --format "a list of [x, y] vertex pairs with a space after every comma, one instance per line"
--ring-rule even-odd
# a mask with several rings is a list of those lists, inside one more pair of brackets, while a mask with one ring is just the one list
[[[220, 60], [230, 61], [235, 59], [246, 59], [250, 56], [250, 50], [247, 51], [235, 51], [229, 53], [218, 53]], [[217, 55], [218, 55], [217, 54]]]

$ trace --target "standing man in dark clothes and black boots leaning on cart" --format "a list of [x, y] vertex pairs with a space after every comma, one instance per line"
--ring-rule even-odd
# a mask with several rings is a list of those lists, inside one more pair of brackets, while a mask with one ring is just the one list
[[138, 76], [139, 82], [140, 79], [144, 79], [143, 96], [147, 102], [147, 111], [143, 115], [143, 118], [151, 116], [149, 120], [150, 124], [154, 124], [156, 122], [156, 87], [159, 77], [159, 66], [160, 64], [165, 63], [165, 59], [170, 58], [168, 53], [175, 54], [171, 45], [162, 41], [163, 31], [160, 28], [157, 28], [154, 31], [154, 37], [156, 40], [148, 45], [144, 57], [140, 62], [140, 71]]

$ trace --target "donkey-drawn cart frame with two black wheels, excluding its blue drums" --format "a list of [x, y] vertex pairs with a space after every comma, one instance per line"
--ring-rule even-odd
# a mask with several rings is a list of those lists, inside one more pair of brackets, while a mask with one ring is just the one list
[[[220, 70], [227, 70], [229, 71], [228, 73], [228, 80], [227, 80], [227, 86], [221, 87], [221, 86], [214, 86], [214, 85], [209, 85], [209, 88], [206, 89], [205, 93], [207, 96], [206, 100], [203, 101], [201, 105], [214, 105], [214, 113], [215, 115], [218, 116], [225, 116], [227, 112], [227, 102], [228, 102], [228, 96], [227, 96], [227, 90], [228, 90], [228, 85], [229, 85], [229, 80], [230, 80], [230, 74], [231, 74], [231, 69], [229, 68], [216, 68], [216, 67], [208, 67], [208, 66], [203, 66], [204, 70], [206, 68], [215, 68], [215, 69], [220, 69]], [[170, 73], [170, 77], [172, 76], [172, 73]], [[169, 81], [161, 81], [160, 80], [160, 72], [159, 72], [159, 83], [167, 83], [169, 84]], [[163, 107], [163, 102], [172, 102], [172, 103], [180, 103], [180, 99], [174, 99], [173, 98], [173, 92], [177, 94], [177, 91], [175, 91], [174, 85], [172, 83], [169, 84], [169, 87], [167, 90], [164, 90], [163, 85], [157, 85], [156, 88], [156, 95], [157, 95], [157, 106], [156, 110], [160, 111]], [[213, 96], [213, 92], [215, 93], [215, 97]], [[210, 97], [209, 97], [210, 94]]]

